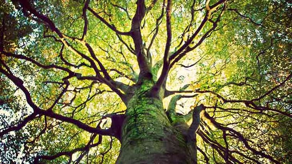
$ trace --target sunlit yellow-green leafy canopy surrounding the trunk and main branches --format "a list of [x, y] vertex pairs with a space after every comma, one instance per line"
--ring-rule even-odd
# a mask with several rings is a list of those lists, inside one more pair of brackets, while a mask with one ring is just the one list
[[[40, 16], [25, 11], [19, 2], [0, 1], [0, 132], [18, 126], [36, 111], [16, 80], [4, 72], [23, 81], [37, 108], [44, 111], [51, 108], [56, 114], [94, 128], [111, 128], [112, 122], [105, 121], [108, 114], [124, 113], [127, 108], [114, 88], [127, 98], [139, 92], [135, 85], [139, 85], [141, 70], [134, 37], [115, 31], [131, 30], [136, 1], [92, 0], [89, 7], [101, 18], [89, 9], [85, 18], [84, 1], [30, 1], [37, 12], [54, 22], [61, 35]], [[139, 29], [144, 43], [142, 51], [152, 57], [149, 67], [163, 60], [167, 40], [166, 3], [158, 0], [152, 6], [152, 2], [145, 2], [146, 7], [152, 8], [146, 10]], [[216, 2], [210, 0], [210, 6]], [[206, 14], [203, 0], [173, 0], [172, 3], [170, 56], [189, 41]], [[292, 162], [292, 4], [288, 0], [227, 0], [225, 5], [219, 21], [214, 23], [224, 9], [223, 4], [212, 11], [210, 20], [183, 49], [182, 59], [173, 63], [166, 90], [183, 92], [181, 88], [189, 84], [185, 89], [189, 92], [176, 103], [176, 112], [185, 114], [189, 106], [203, 103], [207, 106], [205, 112], [222, 126], [210, 120], [201, 122], [197, 143], [203, 153], [198, 151], [199, 163], [227, 163], [233, 158], [237, 163], [273, 163], [255, 153], [263, 152], [280, 163], [289, 164]], [[81, 40], [86, 19], [87, 34]], [[157, 31], [156, 27], [159, 27]], [[85, 42], [112, 81], [106, 78]], [[161, 71], [152, 73], [159, 78]], [[140, 91], [151, 88], [152, 79], [148, 84], [142, 85]], [[33, 163], [37, 156], [54, 156], [98, 142], [101, 143], [90, 149], [41, 162], [65, 164], [77, 162], [80, 157], [81, 164], [113, 164], [117, 159], [120, 148], [117, 139], [103, 136], [100, 141], [97, 135], [91, 141], [93, 134], [74, 123], [40, 114], [35, 117], [20, 130], [0, 136], [3, 164]], [[240, 133], [250, 147], [237, 133], [223, 127]]]

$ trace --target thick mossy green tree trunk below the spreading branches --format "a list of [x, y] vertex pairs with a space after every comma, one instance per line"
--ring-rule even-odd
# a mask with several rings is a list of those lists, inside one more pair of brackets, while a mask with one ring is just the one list
[[161, 98], [148, 91], [141, 86], [128, 102], [116, 163], [193, 164], [184, 135], [169, 122]]

